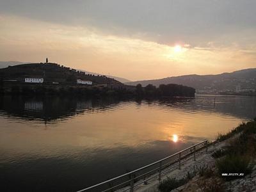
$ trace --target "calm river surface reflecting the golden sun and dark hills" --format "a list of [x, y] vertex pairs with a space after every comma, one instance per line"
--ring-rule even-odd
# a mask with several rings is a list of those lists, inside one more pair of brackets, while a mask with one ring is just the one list
[[255, 116], [256, 97], [1, 97], [1, 188], [76, 191], [214, 140]]

